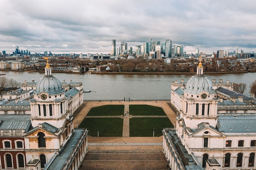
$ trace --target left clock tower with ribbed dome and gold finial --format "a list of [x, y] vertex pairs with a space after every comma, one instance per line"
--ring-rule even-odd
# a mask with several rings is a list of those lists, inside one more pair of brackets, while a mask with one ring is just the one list
[[66, 118], [70, 118], [65, 91], [61, 82], [52, 75], [52, 68], [49, 66], [48, 59], [45, 75], [36, 84], [34, 99], [31, 99], [30, 102], [33, 127], [47, 122], [56, 128], [61, 128]]

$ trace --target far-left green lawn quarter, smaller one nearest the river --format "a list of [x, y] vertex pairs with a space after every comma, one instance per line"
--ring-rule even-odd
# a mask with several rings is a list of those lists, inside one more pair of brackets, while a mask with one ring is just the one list
[[119, 116], [124, 114], [124, 105], [104, 105], [92, 108], [88, 116]]

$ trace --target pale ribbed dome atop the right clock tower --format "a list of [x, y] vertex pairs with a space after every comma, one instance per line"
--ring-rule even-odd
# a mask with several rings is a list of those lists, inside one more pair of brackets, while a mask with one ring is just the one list
[[186, 84], [187, 91], [195, 91], [195, 92], [212, 92], [213, 85], [211, 80], [203, 74], [196, 74], [192, 76]]

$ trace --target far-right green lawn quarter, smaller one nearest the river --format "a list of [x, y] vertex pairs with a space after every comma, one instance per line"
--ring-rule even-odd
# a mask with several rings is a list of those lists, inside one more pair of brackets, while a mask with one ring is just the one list
[[149, 105], [130, 105], [130, 115], [151, 115], [151, 116], [165, 116], [164, 110], [160, 107]]

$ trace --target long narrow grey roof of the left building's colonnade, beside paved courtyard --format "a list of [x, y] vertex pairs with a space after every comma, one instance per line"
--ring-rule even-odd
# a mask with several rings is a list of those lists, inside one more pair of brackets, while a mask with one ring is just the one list
[[54, 158], [45, 165], [45, 169], [65, 170], [63, 168], [66, 165], [67, 161], [72, 159], [71, 154], [76, 148], [76, 145], [79, 143], [80, 138], [83, 136], [84, 131], [84, 129], [74, 129], [74, 134], [65, 146], [65, 149], [63, 149], [63, 151], [59, 155], [54, 155]]

